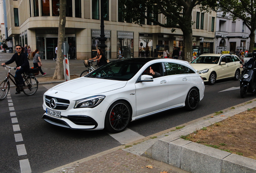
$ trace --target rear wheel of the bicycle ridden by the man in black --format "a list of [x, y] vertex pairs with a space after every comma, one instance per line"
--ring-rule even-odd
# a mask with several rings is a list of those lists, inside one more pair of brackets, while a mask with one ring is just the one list
[[38, 81], [34, 76], [27, 76], [25, 79], [25, 87], [23, 87], [23, 93], [25, 95], [33, 95], [37, 92], [38, 89]]

